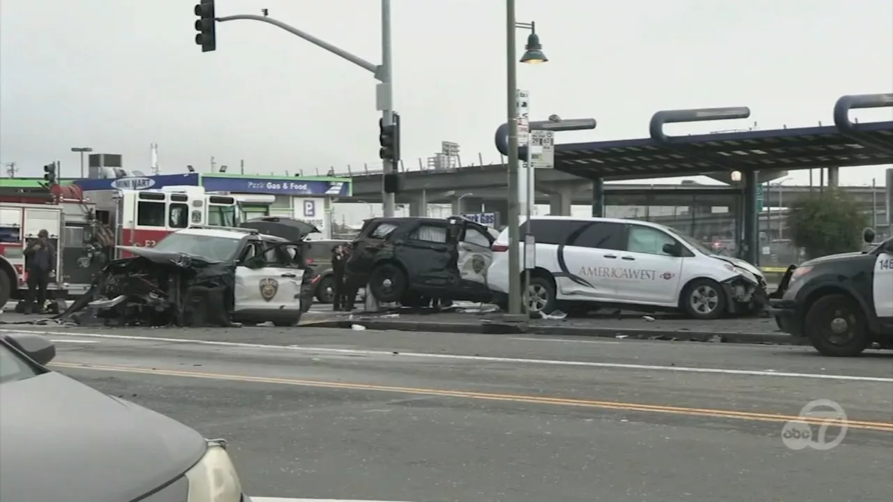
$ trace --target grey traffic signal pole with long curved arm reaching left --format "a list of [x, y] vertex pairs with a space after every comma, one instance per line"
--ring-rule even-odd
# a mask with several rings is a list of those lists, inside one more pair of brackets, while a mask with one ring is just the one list
[[[313, 37], [309, 33], [302, 31], [300, 29], [296, 29], [294, 26], [287, 24], [282, 21], [275, 20], [271, 17], [267, 16], [257, 16], [253, 14], [238, 14], [234, 16], [224, 16], [220, 18], [216, 18], [215, 21], [224, 22], [224, 21], [239, 21], [239, 20], [248, 20], [248, 21], [261, 21], [267, 24], [271, 24], [277, 28], [285, 29], [288, 33], [295, 35], [296, 37], [304, 38], [306, 41], [310, 42], [314, 46], [321, 47], [331, 54], [335, 54], [350, 63], [354, 63], [355, 65], [363, 68], [363, 70], [371, 71], [371, 73], [375, 76], [375, 79], [379, 80], [380, 84], [376, 88], [376, 109], [381, 112], [381, 124], [383, 126], [392, 125], [393, 122], [393, 114], [394, 114], [394, 90], [393, 90], [393, 73], [392, 73], [392, 57], [391, 57], [391, 9], [390, 9], [390, 0], [381, 0], [381, 64], [374, 64], [364, 60], [362, 57], [351, 54], [346, 50], [333, 46], [330, 43], [320, 39]], [[396, 163], [385, 159], [384, 163], [384, 172], [382, 172], [381, 176], [381, 200], [382, 205], [384, 206], [384, 215], [386, 217], [394, 215], [395, 209], [395, 199], [394, 194], [388, 194], [385, 192], [384, 180], [385, 175], [396, 173]]]

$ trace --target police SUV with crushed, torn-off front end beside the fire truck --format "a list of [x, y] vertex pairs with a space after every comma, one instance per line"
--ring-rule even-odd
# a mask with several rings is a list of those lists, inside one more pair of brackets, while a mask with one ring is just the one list
[[154, 247], [118, 248], [131, 257], [106, 265], [62, 316], [86, 306], [123, 325], [296, 326], [319, 277], [300, 242], [254, 229], [193, 226]]

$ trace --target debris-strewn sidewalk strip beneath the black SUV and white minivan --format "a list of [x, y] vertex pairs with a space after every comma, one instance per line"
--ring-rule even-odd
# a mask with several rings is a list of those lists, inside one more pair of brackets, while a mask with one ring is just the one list
[[[335, 319], [307, 322], [314, 328], [367, 330], [468, 332], [489, 334], [538, 334], [614, 339], [664, 339], [724, 343], [798, 344], [778, 330], [773, 319], [737, 318], [715, 321], [684, 319], [678, 315], [631, 314], [589, 315], [563, 320], [508, 320], [502, 313], [447, 312], [338, 314]], [[359, 327], [356, 327], [359, 326]], [[360, 328], [362, 327], [362, 328]]]

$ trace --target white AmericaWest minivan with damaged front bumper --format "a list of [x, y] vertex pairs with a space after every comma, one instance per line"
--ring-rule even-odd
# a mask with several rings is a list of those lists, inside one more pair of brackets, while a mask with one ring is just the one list
[[[530, 224], [529, 224], [530, 223]], [[535, 253], [524, 301], [530, 312], [598, 306], [680, 309], [697, 319], [750, 313], [765, 303], [763, 272], [715, 255], [693, 238], [650, 222], [534, 216], [521, 220]], [[508, 229], [493, 247], [488, 286], [497, 304], [508, 296]], [[523, 268], [523, 245], [517, 252]], [[529, 258], [530, 261], [530, 258]], [[522, 270], [523, 273], [523, 270]]]

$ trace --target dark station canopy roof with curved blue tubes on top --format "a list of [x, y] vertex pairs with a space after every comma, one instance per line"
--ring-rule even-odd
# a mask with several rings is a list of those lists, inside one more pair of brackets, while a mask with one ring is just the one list
[[[848, 119], [850, 109], [882, 106], [893, 106], [893, 95], [843, 96], [835, 106], [835, 125], [674, 137], [663, 134], [664, 123], [715, 120], [673, 120], [674, 113], [731, 109], [658, 112], [650, 138], [555, 145], [555, 169], [583, 178], [649, 178], [888, 164], [893, 163], [893, 121]], [[738, 110], [744, 112], [731, 118], [749, 115], [747, 108]]]

